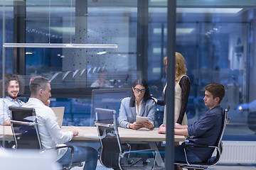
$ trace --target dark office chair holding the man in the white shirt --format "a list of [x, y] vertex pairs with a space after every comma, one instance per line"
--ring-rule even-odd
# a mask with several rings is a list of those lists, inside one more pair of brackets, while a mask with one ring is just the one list
[[[36, 122], [36, 112], [34, 108], [9, 107], [11, 117], [11, 130], [14, 134], [15, 145], [14, 149], [38, 149], [40, 152], [45, 152], [41, 145], [41, 139], [38, 132], [38, 124]], [[70, 164], [63, 165], [63, 169], [71, 169], [75, 166], [82, 166], [81, 162], [72, 162], [74, 147], [62, 146], [50, 149], [60, 149], [70, 147], [71, 159]]]

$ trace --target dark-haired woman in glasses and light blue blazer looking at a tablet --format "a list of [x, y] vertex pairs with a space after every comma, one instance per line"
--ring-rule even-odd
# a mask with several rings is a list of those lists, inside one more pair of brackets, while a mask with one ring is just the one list
[[[149, 94], [145, 79], [136, 79], [132, 85], [132, 96], [123, 98], [119, 111], [119, 126], [129, 129], [154, 128], [155, 103]], [[138, 116], [148, 117], [144, 123], [137, 123]]]

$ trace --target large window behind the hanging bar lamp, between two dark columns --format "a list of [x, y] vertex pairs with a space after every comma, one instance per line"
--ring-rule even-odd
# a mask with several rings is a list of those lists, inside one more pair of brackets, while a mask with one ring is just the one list
[[136, 79], [132, 72], [137, 69], [137, 1], [132, 6], [102, 1], [26, 4], [28, 43], [118, 45], [117, 49], [26, 48], [26, 75], [45, 74], [54, 79], [55, 74], [65, 77], [68, 72], [77, 71], [85, 87], [91, 86], [102, 69], [107, 71], [111, 87], [122, 87]]

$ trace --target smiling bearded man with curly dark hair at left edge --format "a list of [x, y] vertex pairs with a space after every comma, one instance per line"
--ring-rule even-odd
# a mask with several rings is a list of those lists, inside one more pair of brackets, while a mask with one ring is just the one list
[[[1, 81], [2, 91], [3, 82]], [[23, 101], [18, 100], [18, 94], [23, 89], [23, 81], [17, 74], [6, 74], [4, 77], [5, 98], [0, 98], [0, 125], [11, 125], [9, 106], [21, 107]]]

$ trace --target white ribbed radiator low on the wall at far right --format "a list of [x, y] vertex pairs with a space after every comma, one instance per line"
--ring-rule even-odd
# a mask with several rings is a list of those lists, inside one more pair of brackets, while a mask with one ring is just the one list
[[223, 141], [219, 163], [256, 164], [256, 141]]

